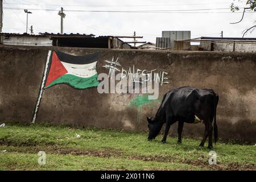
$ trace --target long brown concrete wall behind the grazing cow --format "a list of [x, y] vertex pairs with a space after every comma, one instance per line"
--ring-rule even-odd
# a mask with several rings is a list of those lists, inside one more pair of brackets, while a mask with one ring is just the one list
[[[105, 60], [124, 69], [157, 69], [167, 72], [169, 84], [160, 86], [159, 101], [139, 105], [139, 94], [99, 94], [97, 88], [76, 90], [56, 85], [43, 93], [36, 122], [73, 123], [147, 131], [146, 117], [155, 115], [168, 90], [179, 86], [212, 88], [220, 96], [217, 123], [220, 137], [256, 142], [256, 53], [148, 51], [56, 48], [73, 55], [100, 51], [98, 73]], [[46, 47], [0, 46], [0, 121], [31, 122], [38, 97]], [[203, 124], [185, 124], [184, 134], [203, 135]], [[177, 134], [176, 124], [171, 134]]]

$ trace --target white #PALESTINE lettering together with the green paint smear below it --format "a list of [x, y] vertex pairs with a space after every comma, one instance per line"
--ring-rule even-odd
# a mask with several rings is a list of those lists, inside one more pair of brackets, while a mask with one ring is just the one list
[[[102, 67], [109, 69], [109, 73], [108, 73], [109, 78], [114, 77], [112, 78], [114, 80], [118, 80], [118, 78], [120, 78], [120, 82], [122, 82], [123, 80], [130, 77], [131, 82], [135, 84], [135, 85], [134, 84], [131, 85], [133, 87], [132, 89], [130, 89], [131, 86], [130, 87], [128, 86], [127, 89], [123, 89], [123, 90], [125, 90], [126, 93], [131, 94], [131, 97], [133, 97], [133, 99], [129, 103], [129, 106], [137, 108], [138, 110], [137, 122], [139, 123], [141, 121], [141, 113], [142, 113], [143, 106], [155, 107], [155, 106], [158, 106], [159, 102], [161, 102], [161, 100], [159, 100], [158, 97], [155, 99], [150, 99], [150, 97], [148, 96], [149, 95], [148, 93], [152, 93], [151, 91], [154, 91], [154, 89], [151, 89], [152, 82], [155, 82], [157, 84], [157, 85], [154, 84], [154, 88], [157, 89], [157, 92], [158, 92], [158, 89], [159, 89], [158, 84], [160, 86], [162, 86], [163, 84], [169, 84], [169, 82], [167, 81], [168, 78], [166, 77], [168, 73], [164, 71], [158, 71], [156, 69], [151, 69], [149, 71], [147, 69], [139, 69], [139, 68], [135, 69], [134, 64], [131, 67], [129, 67], [129, 69], [125, 69], [118, 62], [118, 59], [119, 58], [117, 57], [117, 59], [114, 60], [114, 56], [113, 56], [112, 60], [105, 60], [106, 64], [103, 65]], [[117, 75], [121, 74], [121, 76], [115, 77], [116, 73]], [[148, 86], [149, 83], [151, 83], [150, 86]], [[136, 84], [137, 84], [137, 88], [136, 88]], [[127, 86], [127, 82], [125, 82], [124, 85]], [[114, 92], [110, 92], [110, 93], [114, 93]]]

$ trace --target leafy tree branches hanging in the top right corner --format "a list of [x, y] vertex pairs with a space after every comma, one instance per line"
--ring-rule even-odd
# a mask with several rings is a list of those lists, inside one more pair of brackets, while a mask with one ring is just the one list
[[[234, 1], [236, 1], [236, 0], [234, 0]], [[241, 2], [241, 0], [238, 0], [238, 2]], [[238, 21], [238, 22], [235, 22], [235, 23], [230, 23], [230, 24], [240, 23], [240, 22], [243, 20], [243, 16], [245, 15], [245, 11], [246, 11], [246, 10], [256, 11], [256, 0], [247, 0], [247, 1], [246, 1], [246, 6], [247, 6], [247, 7], [243, 7], [243, 14], [242, 14], [241, 20]], [[231, 9], [232, 12], [235, 12], [235, 11], [239, 11], [239, 10], [240, 10], [240, 8], [239, 8], [238, 6], [236, 6], [236, 5], [234, 4], [234, 2], [231, 3], [230, 9]], [[250, 28], [247, 28], [247, 29], [245, 30], [245, 32], [243, 32], [243, 36], [245, 36], [246, 32], [248, 32], [249, 30], [252, 30], [252, 31], [253, 31], [255, 27], [256, 27], [256, 25], [254, 25], [254, 26], [252, 26], [252, 27], [250, 27]], [[242, 38], [243, 38], [243, 36], [242, 36]]]

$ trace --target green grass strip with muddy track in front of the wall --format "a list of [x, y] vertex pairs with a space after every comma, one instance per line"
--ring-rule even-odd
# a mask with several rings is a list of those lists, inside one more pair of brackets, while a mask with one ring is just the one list
[[[76, 138], [76, 134], [81, 137]], [[217, 143], [217, 165], [200, 140], [162, 136], [151, 142], [145, 133], [81, 129], [52, 125], [0, 128], [0, 170], [256, 170], [256, 147]], [[6, 150], [5, 152], [3, 152]], [[46, 152], [46, 165], [38, 152]]]

